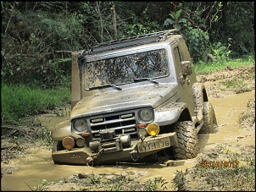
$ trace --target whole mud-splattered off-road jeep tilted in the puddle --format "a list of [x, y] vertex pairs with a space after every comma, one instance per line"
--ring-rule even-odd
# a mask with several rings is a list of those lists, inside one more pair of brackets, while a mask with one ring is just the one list
[[51, 130], [53, 162], [95, 166], [198, 155], [218, 130], [183, 36], [174, 30], [72, 53], [70, 120]]

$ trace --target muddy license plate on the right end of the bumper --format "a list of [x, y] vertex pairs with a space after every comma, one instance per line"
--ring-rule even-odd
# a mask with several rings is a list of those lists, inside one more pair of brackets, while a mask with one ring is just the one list
[[164, 149], [169, 146], [170, 146], [170, 137], [156, 138], [154, 140], [147, 140], [147, 141], [137, 143], [138, 151], [140, 153]]

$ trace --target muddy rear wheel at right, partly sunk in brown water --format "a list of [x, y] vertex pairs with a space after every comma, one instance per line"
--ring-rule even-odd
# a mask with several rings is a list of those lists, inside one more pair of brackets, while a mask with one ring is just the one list
[[214, 107], [209, 101], [203, 102], [203, 127], [199, 134], [214, 134], [218, 132], [218, 124], [214, 112]]

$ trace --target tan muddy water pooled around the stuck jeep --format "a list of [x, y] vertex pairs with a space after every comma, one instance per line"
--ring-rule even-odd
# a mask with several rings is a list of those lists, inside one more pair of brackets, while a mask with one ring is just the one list
[[[201, 151], [213, 148], [221, 143], [242, 143], [254, 145], [255, 140], [248, 137], [248, 132], [242, 131], [238, 126], [238, 116], [247, 109], [248, 100], [255, 96], [255, 91], [225, 96], [224, 98], [213, 98], [209, 100], [214, 106], [219, 132], [216, 134], [199, 134], [199, 145]], [[64, 118], [42, 117], [42, 124], [51, 129], [54, 124], [63, 121]], [[17, 164], [19, 171], [4, 175], [1, 179], [1, 190], [24, 191], [32, 190], [37, 184], [42, 184], [42, 179], [48, 182], [69, 178], [73, 173], [128, 173], [140, 175], [138, 180], [144, 182], [150, 178], [162, 177], [168, 184], [168, 190], [174, 190], [171, 180], [176, 170], [185, 171], [193, 167], [195, 159], [186, 161], [168, 161], [163, 164], [120, 164], [118, 166], [67, 166], [55, 165], [51, 161], [51, 151], [42, 149], [36, 151]]]

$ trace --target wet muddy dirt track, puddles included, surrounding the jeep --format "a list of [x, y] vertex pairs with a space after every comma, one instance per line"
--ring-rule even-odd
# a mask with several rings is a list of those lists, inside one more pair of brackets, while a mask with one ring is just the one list
[[[222, 160], [226, 160], [226, 150], [238, 152], [244, 151], [244, 147], [250, 153], [244, 154], [253, 158], [253, 149], [255, 148], [255, 118], [247, 118], [247, 121], [240, 121], [243, 112], [246, 112], [248, 108], [255, 109], [255, 83], [254, 83], [254, 66], [250, 68], [233, 69], [232, 71], [222, 71], [214, 74], [198, 75], [198, 80], [203, 82], [207, 88], [209, 101], [213, 104], [216, 113], [217, 122], [220, 126], [219, 132], [216, 134], [199, 134], [200, 154], [197, 158], [157, 163], [144, 163], [144, 164], [117, 164], [114, 166], [100, 166], [100, 167], [86, 167], [86, 166], [66, 166], [66, 165], [54, 165], [51, 159], [51, 151], [46, 146], [42, 146], [39, 143], [30, 145], [23, 152], [20, 152], [18, 158], [9, 159], [8, 156], [8, 140], [5, 138], [1, 140], [2, 162], [1, 170], [1, 190], [31, 190], [36, 189], [34, 186], [42, 184], [41, 190], [82, 190], [86, 189], [81, 184], [75, 184], [72, 182], [64, 182], [68, 178], [81, 178], [81, 175], [95, 174], [95, 175], [124, 175], [136, 180], [140, 183], [145, 183], [149, 179], [161, 178], [163, 186], [160, 189], [176, 190], [176, 189], [198, 189], [204, 184], [202, 180], [198, 180], [201, 184], [197, 183], [197, 178], [191, 178], [193, 173], [190, 173], [190, 177], [187, 176], [185, 170], [190, 172], [193, 167], [202, 164], [204, 161], [209, 161], [209, 154], [214, 156], [214, 153], [221, 153], [221, 149], [216, 151], [216, 147], [225, 148], [222, 150]], [[229, 82], [237, 80], [243, 80], [243, 85], [229, 86]], [[254, 100], [254, 104], [248, 106], [249, 101]], [[253, 101], [252, 101], [253, 102]], [[251, 110], [250, 114], [254, 110]], [[255, 112], [253, 114], [255, 117]], [[63, 121], [67, 116], [58, 117], [56, 115], [43, 115], [37, 117], [38, 121], [42, 123], [42, 126], [51, 129], [53, 124]], [[19, 141], [17, 141], [19, 142]], [[14, 147], [21, 147], [20, 142], [13, 145]], [[251, 147], [253, 146], [253, 147]], [[255, 149], [254, 149], [255, 154]], [[219, 154], [220, 155], [220, 154]], [[255, 165], [255, 156], [254, 156]], [[246, 163], [244, 158], [237, 158], [239, 166]], [[191, 168], [191, 169], [190, 169]], [[200, 170], [206, 170], [207, 167], [201, 167]], [[254, 167], [255, 169], [255, 167]], [[186, 180], [182, 186], [177, 186], [172, 183], [177, 173], [181, 173], [183, 180]], [[183, 174], [185, 173], [185, 174]], [[203, 174], [203, 173], [202, 173]], [[80, 176], [79, 176], [80, 175]], [[198, 176], [198, 179], [200, 176]], [[201, 179], [202, 179], [201, 175]], [[44, 180], [45, 179], [45, 180]], [[61, 180], [62, 182], [58, 182]], [[92, 178], [91, 178], [92, 180]], [[15, 182], [14, 182], [15, 181]], [[255, 178], [254, 178], [255, 181]], [[46, 183], [47, 182], [47, 183]], [[56, 182], [48, 184], [48, 182]], [[179, 181], [176, 181], [178, 184]], [[45, 185], [43, 185], [45, 184]], [[213, 188], [205, 184], [203, 189], [220, 189], [218, 185]], [[255, 185], [254, 185], [255, 187]], [[202, 190], [203, 190], [202, 189]], [[255, 188], [254, 188], [255, 189]], [[87, 188], [87, 190], [89, 190]], [[97, 189], [96, 189], [97, 190]], [[99, 189], [100, 190], [100, 189]], [[108, 190], [108, 189], [105, 189]], [[127, 189], [126, 189], [127, 190]], [[138, 187], [137, 190], [140, 190]]]

